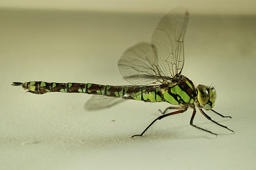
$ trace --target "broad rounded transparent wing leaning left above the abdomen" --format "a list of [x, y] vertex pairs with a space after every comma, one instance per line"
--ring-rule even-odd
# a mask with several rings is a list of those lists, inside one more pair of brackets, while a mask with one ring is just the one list
[[118, 68], [134, 85], [162, 82], [161, 76], [164, 76], [150, 43], [138, 43], [127, 49], [118, 61]]

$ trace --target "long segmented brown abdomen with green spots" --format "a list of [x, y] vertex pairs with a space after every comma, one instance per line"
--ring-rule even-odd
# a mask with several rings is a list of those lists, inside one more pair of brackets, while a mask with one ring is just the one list
[[163, 94], [159, 86], [109, 86], [90, 83], [25, 82], [24, 89], [34, 94], [48, 92], [99, 94], [144, 102], [162, 102]]

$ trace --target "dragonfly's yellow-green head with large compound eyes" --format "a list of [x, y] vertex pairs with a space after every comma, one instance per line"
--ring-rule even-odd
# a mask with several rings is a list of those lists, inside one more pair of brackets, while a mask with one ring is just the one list
[[214, 88], [209, 88], [204, 85], [198, 85], [196, 88], [196, 97], [199, 104], [206, 110], [212, 109], [214, 107], [214, 102], [216, 100], [216, 91]]

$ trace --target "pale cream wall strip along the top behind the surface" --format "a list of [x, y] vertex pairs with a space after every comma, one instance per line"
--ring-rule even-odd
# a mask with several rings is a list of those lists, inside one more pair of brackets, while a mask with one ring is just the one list
[[7, 8], [162, 13], [183, 6], [193, 14], [256, 14], [255, 0], [1, 0]]

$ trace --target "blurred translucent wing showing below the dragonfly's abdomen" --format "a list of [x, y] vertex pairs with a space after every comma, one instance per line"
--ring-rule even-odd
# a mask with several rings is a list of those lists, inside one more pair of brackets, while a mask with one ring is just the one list
[[86, 110], [96, 110], [110, 107], [126, 101], [123, 98], [113, 98], [102, 95], [93, 95], [90, 100], [85, 103]]

